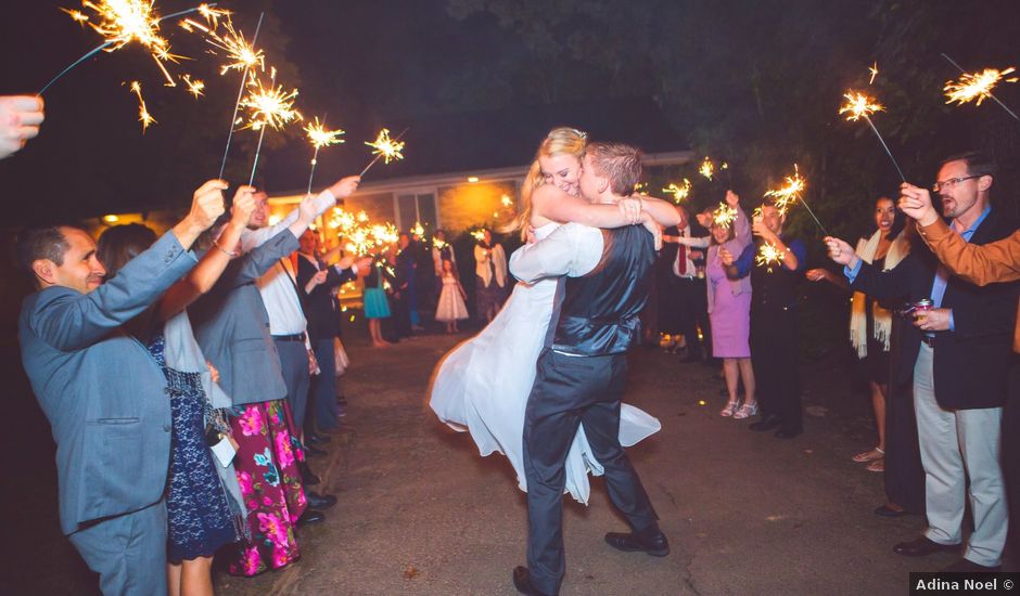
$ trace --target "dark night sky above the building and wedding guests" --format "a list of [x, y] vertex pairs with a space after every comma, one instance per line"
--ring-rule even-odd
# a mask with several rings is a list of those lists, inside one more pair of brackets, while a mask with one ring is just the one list
[[[167, 14], [193, 5], [161, 0], [156, 8]], [[38, 90], [100, 42], [61, 7], [78, 8], [72, 0], [8, 3], [0, 93]], [[299, 88], [297, 107], [309, 118], [328, 114], [329, 124], [347, 131], [346, 144], [320, 154], [320, 184], [359, 170], [369, 158], [362, 141], [382, 126], [394, 134], [408, 125], [412, 131], [407, 161], [373, 170], [377, 179], [418, 173], [433, 154], [484, 155], [508, 127], [537, 143], [540, 126], [528, 114], [549, 106], [643, 99], [670, 119], [683, 145], [674, 148], [744, 155], [749, 177], [756, 173], [752, 163], [772, 157], [788, 168], [798, 159], [816, 178], [829, 172], [825, 184], [867, 194], [897, 182], [895, 172], [863, 137], [868, 131], [842, 124], [836, 107], [843, 89], [866, 82], [876, 59], [889, 85], [883, 99], [898, 108], [880, 126], [911, 178], [927, 183], [933, 160], [949, 146], [991, 139], [999, 157], [1013, 158], [1020, 144], [1020, 124], [997, 106], [942, 105], [942, 81], [954, 73], [938, 57], [948, 51], [973, 68], [1020, 62], [1015, 1], [227, 0], [220, 7], [235, 12], [248, 37], [265, 8], [258, 46], [280, 66], [280, 81]], [[137, 47], [81, 64], [47, 92], [40, 138], [0, 161], [14, 223], [179, 208], [216, 176], [239, 76], [220, 77], [218, 59], [204, 53], [197, 36], [171, 23], [164, 31], [175, 52], [196, 59], [182, 66], [206, 81], [206, 96], [195, 101], [162, 87]], [[158, 120], [144, 134], [127, 86], [136, 79]], [[922, 81], [923, 93], [914, 81]], [[1015, 106], [1018, 87], [1002, 90]], [[458, 120], [473, 128], [436, 132], [436, 122]], [[636, 131], [636, 141], [650, 132]], [[297, 127], [267, 133], [257, 184], [270, 192], [303, 186], [310, 147], [302, 135]], [[246, 182], [257, 135], [242, 131], [235, 139], [227, 178]], [[834, 164], [876, 173], [832, 179]]]

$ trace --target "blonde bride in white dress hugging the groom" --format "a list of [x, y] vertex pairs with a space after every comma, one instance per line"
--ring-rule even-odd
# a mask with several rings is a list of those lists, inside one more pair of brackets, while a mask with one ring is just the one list
[[[572, 128], [549, 132], [538, 148], [521, 189], [522, 212], [517, 228], [534, 230], [534, 239], [552, 233], [561, 222], [597, 228], [630, 224], [637, 202], [622, 206], [592, 205], [579, 197], [581, 157], [586, 137]], [[651, 217], [666, 221], [673, 206], [646, 198]], [[640, 209], [640, 206], [637, 207]], [[649, 228], [656, 224], [643, 220]], [[658, 229], [658, 228], [656, 228]], [[438, 418], [458, 431], [470, 431], [485, 456], [500, 452], [527, 490], [523, 468], [524, 409], [535, 380], [535, 364], [552, 318], [556, 280], [527, 285], [519, 282], [502, 310], [475, 337], [460, 344], [439, 362], [433, 375], [430, 405]], [[630, 446], [661, 428], [659, 420], [632, 405], [622, 404], [620, 443]], [[588, 503], [588, 472], [602, 475], [591, 455], [584, 425], [577, 429], [566, 457], [566, 491]]]

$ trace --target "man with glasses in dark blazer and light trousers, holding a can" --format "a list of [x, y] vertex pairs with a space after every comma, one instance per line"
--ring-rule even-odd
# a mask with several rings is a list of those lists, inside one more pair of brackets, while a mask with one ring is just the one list
[[[1016, 225], [992, 208], [995, 166], [983, 154], [947, 158], [934, 190], [943, 215], [967, 242], [987, 244]], [[904, 183], [904, 196], [928, 191]], [[897, 544], [904, 556], [957, 550], [962, 541], [965, 490], [974, 531], [964, 558], [945, 571], [995, 571], [1006, 542], [1007, 508], [999, 463], [1003, 405], [1011, 359], [1016, 283], [978, 287], [952, 276], [930, 250], [915, 249], [895, 269], [881, 272], [864, 263], [845, 242], [826, 238], [829, 256], [845, 265], [853, 289], [875, 298], [930, 299], [904, 333], [904, 366], [897, 381], [914, 375], [914, 407], [926, 474], [928, 530]], [[969, 480], [969, 483], [968, 483]]]

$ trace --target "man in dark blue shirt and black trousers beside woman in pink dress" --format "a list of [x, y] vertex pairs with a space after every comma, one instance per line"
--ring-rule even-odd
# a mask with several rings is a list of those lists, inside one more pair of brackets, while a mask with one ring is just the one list
[[[800, 239], [782, 233], [786, 215], [766, 202], [751, 226], [758, 242], [736, 256], [725, 246], [719, 259], [730, 280], [751, 281], [751, 363], [762, 417], [751, 430], [778, 427], [775, 436], [792, 439], [803, 432], [798, 368], [796, 283], [807, 260]], [[755, 258], [766, 251], [770, 259]]]

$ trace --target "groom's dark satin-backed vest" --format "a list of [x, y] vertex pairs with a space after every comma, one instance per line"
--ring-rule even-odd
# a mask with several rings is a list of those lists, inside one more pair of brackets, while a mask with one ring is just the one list
[[602, 260], [583, 277], [568, 277], [552, 349], [577, 355], [627, 351], [640, 339], [638, 313], [648, 301], [655, 246], [640, 225], [603, 230]]

